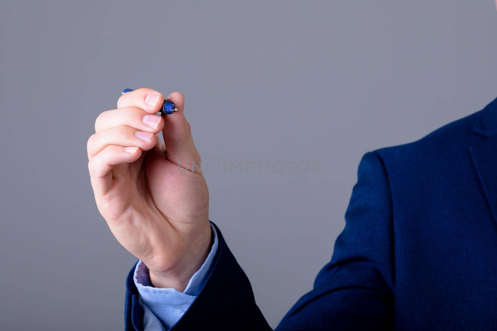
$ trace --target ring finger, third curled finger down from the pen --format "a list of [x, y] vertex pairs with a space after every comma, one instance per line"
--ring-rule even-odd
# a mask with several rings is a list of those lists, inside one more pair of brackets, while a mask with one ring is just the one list
[[88, 159], [100, 153], [108, 145], [138, 146], [142, 150], [152, 149], [157, 142], [154, 132], [139, 131], [128, 126], [118, 126], [91, 135], [87, 143]]

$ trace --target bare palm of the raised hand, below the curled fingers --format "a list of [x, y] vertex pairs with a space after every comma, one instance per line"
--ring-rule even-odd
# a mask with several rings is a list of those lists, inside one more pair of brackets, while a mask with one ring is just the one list
[[[205, 221], [208, 191], [201, 174], [178, 169], [158, 149], [109, 173], [111, 187], [102, 214], [119, 243], [149, 267], [170, 260], [171, 247], [187, 245], [189, 231]], [[140, 238], [140, 240], [136, 240]]]

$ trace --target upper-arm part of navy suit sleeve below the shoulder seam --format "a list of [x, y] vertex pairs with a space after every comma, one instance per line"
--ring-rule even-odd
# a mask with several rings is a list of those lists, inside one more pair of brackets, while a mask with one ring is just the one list
[[392, 197], [383, 162], [365, 154], [331, 262], [276, 330], [392, 330]]

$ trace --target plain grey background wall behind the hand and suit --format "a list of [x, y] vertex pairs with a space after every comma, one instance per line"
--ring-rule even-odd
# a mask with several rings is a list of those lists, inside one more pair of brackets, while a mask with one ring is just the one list
[[135, 258], [99, 215], [86, 140], [123, 88], [185, 94], [210, 218], [271, 326], [331, 258], [365, 152], [497, 95], [493, 0], [1, 1], [0, 329], [121, 330]]

